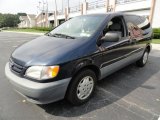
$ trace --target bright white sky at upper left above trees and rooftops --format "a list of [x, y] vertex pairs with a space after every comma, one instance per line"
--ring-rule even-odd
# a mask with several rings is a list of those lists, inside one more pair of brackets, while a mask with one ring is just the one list
[[[37, 14], [39, 1], [43, 0], [0, 0], [0, 13], [19, 13], [25, 12], [27, 14]], [[45, 2], [46, 0], [44, 0]], [[54, 11], [54, 0], [47, 0], [49, 11]], [[62, 9], [62, 0], [56, 0], [58, 9]], [[67, 0], [64, 0], [66, 4]], [[73, 0], [72, 0], [73, 1]], [[75, 1], [75, 0], [74, 0]], [[64, 5], [65, 6], [65, 5]], [[42, 4], [41, 4], [42, 8]]]

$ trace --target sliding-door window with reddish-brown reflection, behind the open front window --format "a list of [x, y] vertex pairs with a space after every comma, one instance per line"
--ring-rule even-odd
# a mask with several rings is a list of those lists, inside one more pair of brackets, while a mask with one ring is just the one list
[[130, 32], [131, 38], [142, 37], [143, 31], [141, 25], [143, 20], [140, 16], [126, 15], [125, 20], [127, 23], [128, 31]]

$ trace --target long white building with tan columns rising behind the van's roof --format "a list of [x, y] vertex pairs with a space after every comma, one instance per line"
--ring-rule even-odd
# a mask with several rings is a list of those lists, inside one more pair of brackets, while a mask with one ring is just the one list
[[64, 20], [78, 15], [114, 11], [146, 16], [152, 23], [153, 28], [160, 27], [160, 0], [84, 0], [83, 3], [78, 5], [66, 7], [63, 12], [57, 10], [48, 17], [47, 21], [57, 26]]

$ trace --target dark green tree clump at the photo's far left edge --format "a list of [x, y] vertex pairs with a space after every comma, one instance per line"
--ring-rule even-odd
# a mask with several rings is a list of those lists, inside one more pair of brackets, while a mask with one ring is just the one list
[[20, 23], [18, 15], [0, 13], [0, 28], [17, 27], [18, 23]]

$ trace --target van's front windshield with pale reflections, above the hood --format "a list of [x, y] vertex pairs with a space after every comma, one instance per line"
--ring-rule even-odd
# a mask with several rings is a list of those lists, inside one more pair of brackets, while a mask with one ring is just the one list
[[53, 35], [54, 37], [65, 36], [66, 38], [90, 37], [96, 32], [104, 19], [105, 16], [75, 17], [52, 30], [49, 35]]

